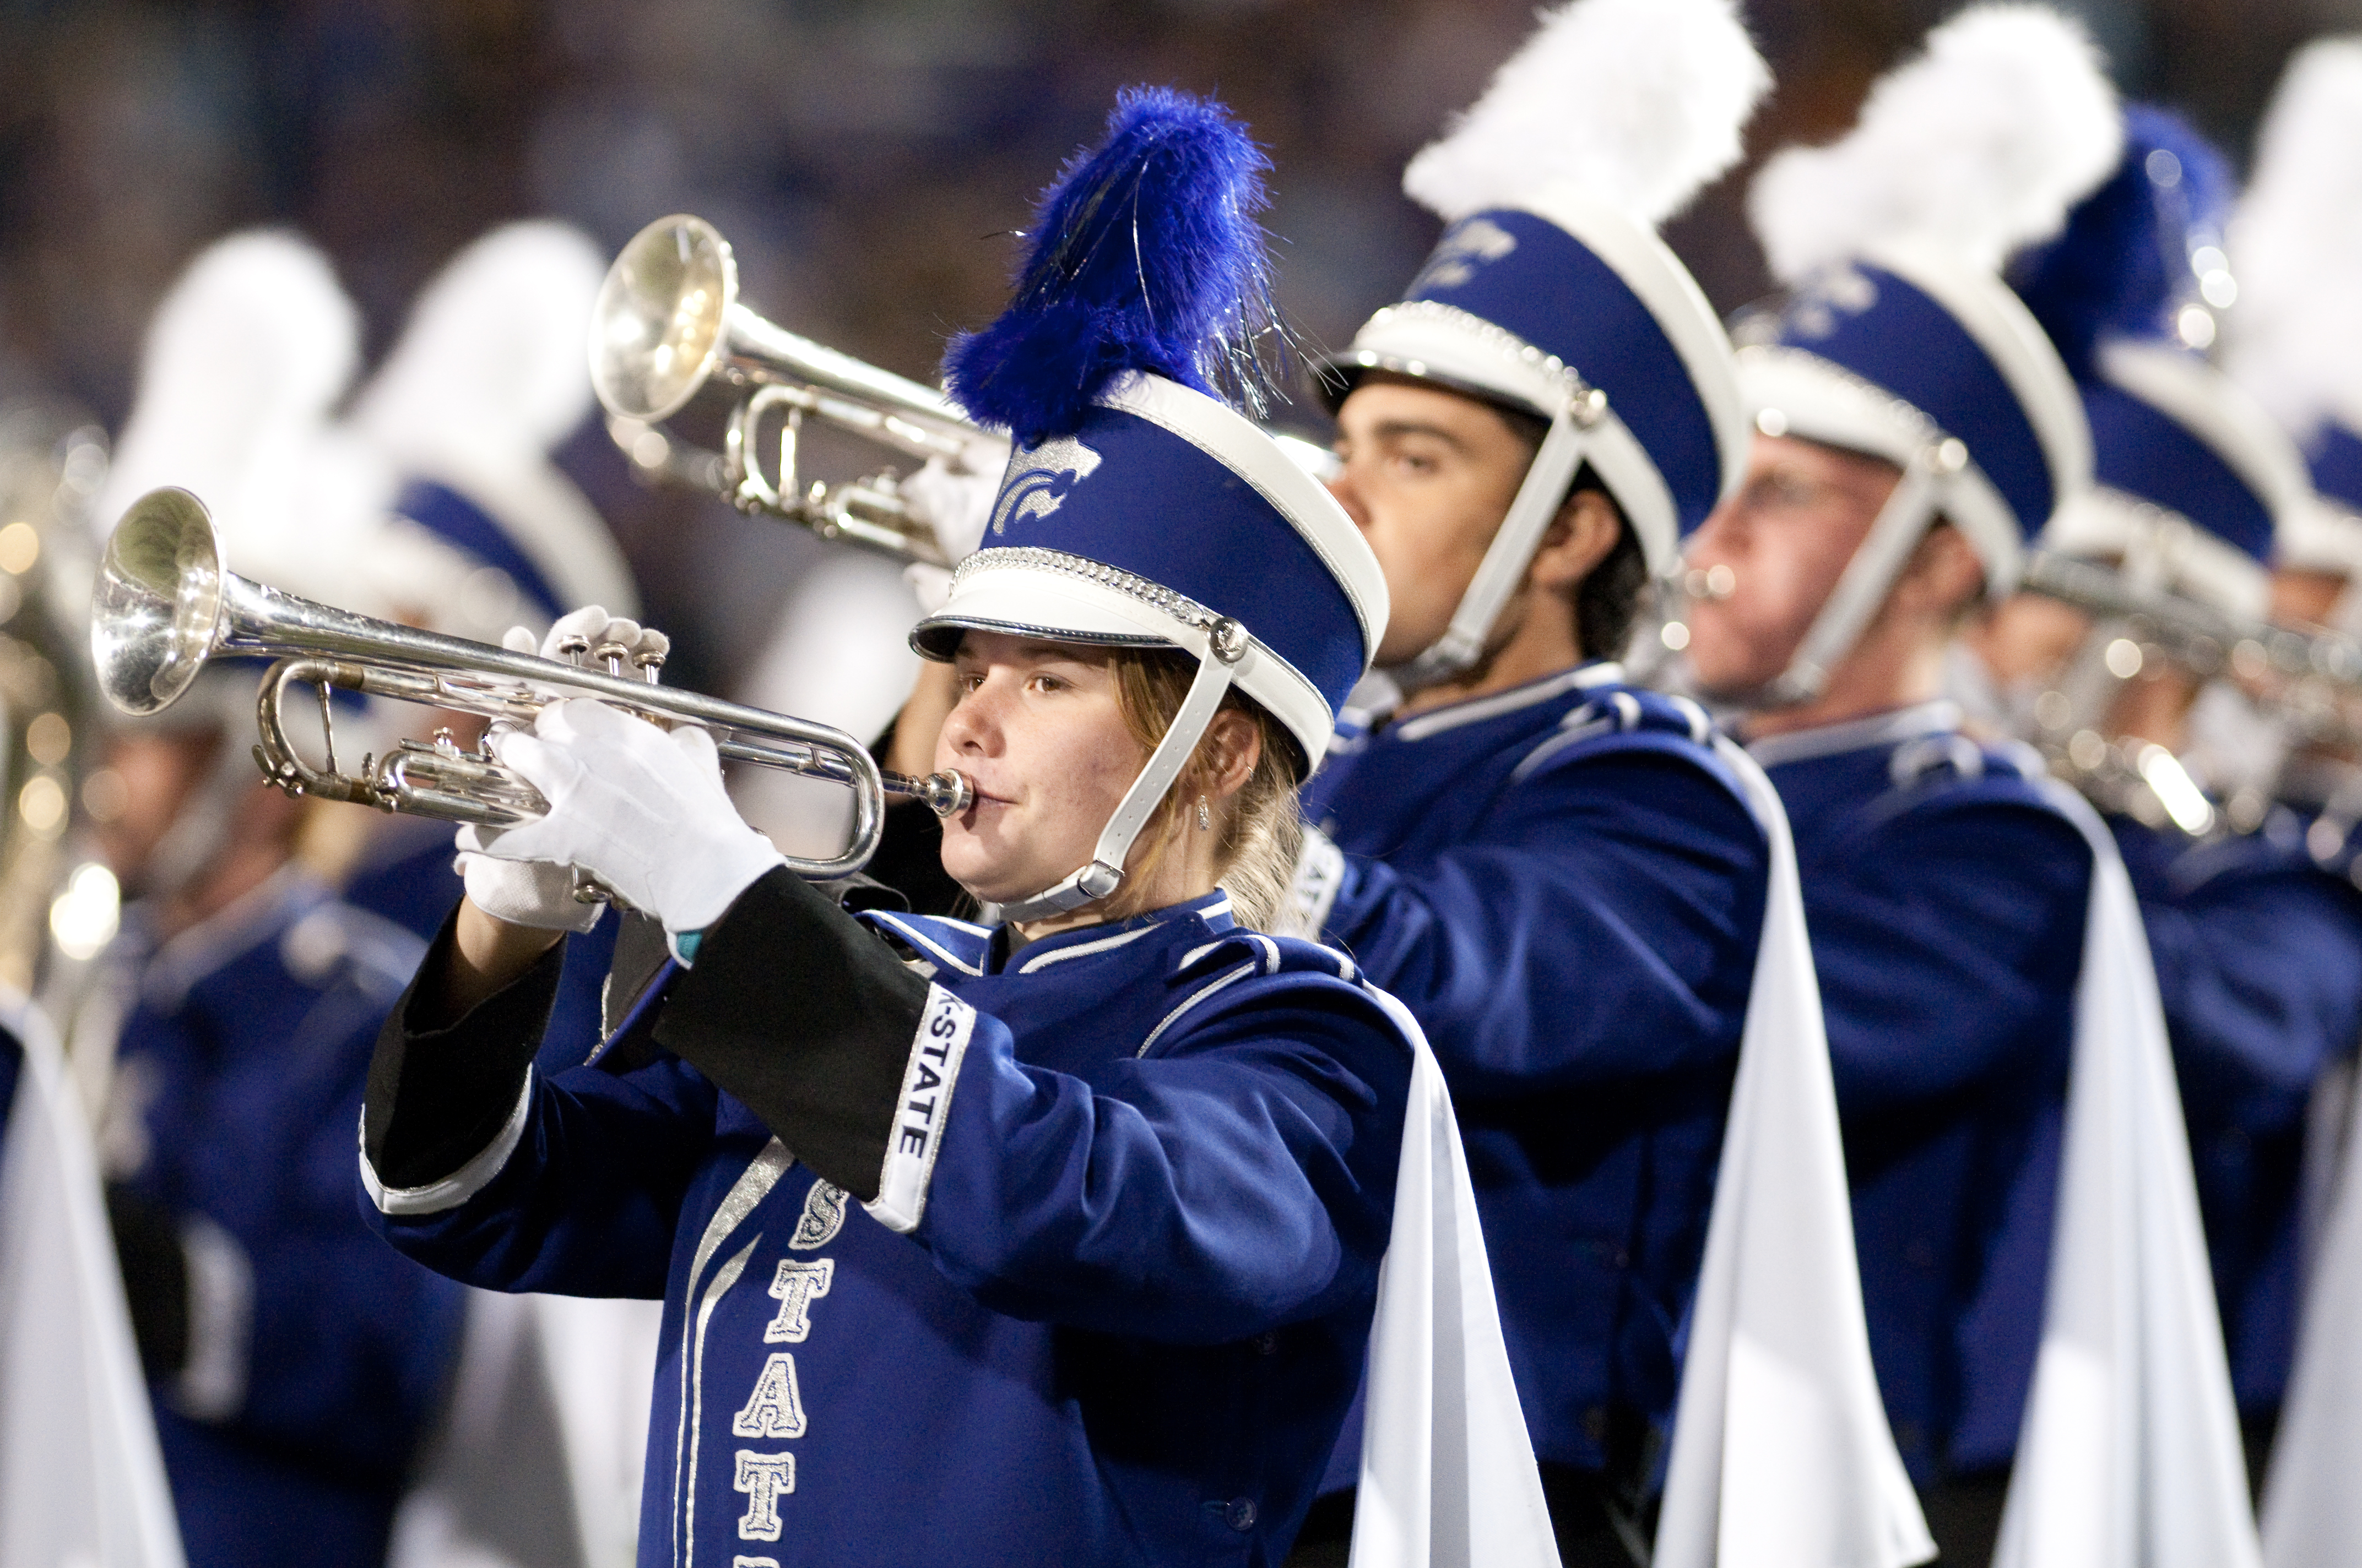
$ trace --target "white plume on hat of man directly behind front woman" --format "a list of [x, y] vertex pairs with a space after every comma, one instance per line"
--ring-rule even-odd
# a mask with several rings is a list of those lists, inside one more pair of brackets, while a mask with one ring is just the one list
[[1653, 227], [1738, 163], [1769, 87], [1731, 0], [1568, 0], [1410, 161], [1403, 191], [1450, 222], [1571, 184]]

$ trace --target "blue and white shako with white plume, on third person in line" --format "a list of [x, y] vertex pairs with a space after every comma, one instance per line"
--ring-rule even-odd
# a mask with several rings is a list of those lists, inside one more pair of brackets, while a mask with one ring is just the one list
[[1821, 692], [1937, 522], [2017, 583], [2027, 543], [2090, 484], [2074, 380], [2001, 281], [2116, 168], [2116, 94], [2083, 28], [1977, 5], [1883, 76], [1842, 139], [1786, 149], [1748, 217], [1790, 293], [1738, 328], [1755, 427], [1904, 470], [1774, 701]]

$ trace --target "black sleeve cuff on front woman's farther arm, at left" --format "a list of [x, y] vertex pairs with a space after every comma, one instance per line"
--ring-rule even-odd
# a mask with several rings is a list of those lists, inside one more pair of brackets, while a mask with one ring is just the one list
[[482, 1155], [517, 1110], [557, 999], [567, 945], [553, 942], [529, 971], [444, 1030], [418, 1030], [420, 989], [442, 985], [454, 921], [435, 935], [368, 1060], [361, 1157], [387, 1188], [428, 1188]]

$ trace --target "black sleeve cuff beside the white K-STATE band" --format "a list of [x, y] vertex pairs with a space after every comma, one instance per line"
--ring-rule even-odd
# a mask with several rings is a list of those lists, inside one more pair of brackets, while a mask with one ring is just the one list
[[879, 1195], [928, 985], [787, 869], [706, 928], [657, 1044], [737, 1096], [827, 1181]]

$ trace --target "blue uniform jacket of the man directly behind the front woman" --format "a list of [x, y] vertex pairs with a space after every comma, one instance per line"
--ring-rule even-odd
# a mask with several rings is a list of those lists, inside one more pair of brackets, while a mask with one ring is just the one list
[[1764, 834], [1703, 713], [1613, 664], [1346, 730], [1306, 812], [1325, 940], [1450, 1082], [1535, 1455], [1599, 1469], [1611, 1410], [1672, 1412]]

